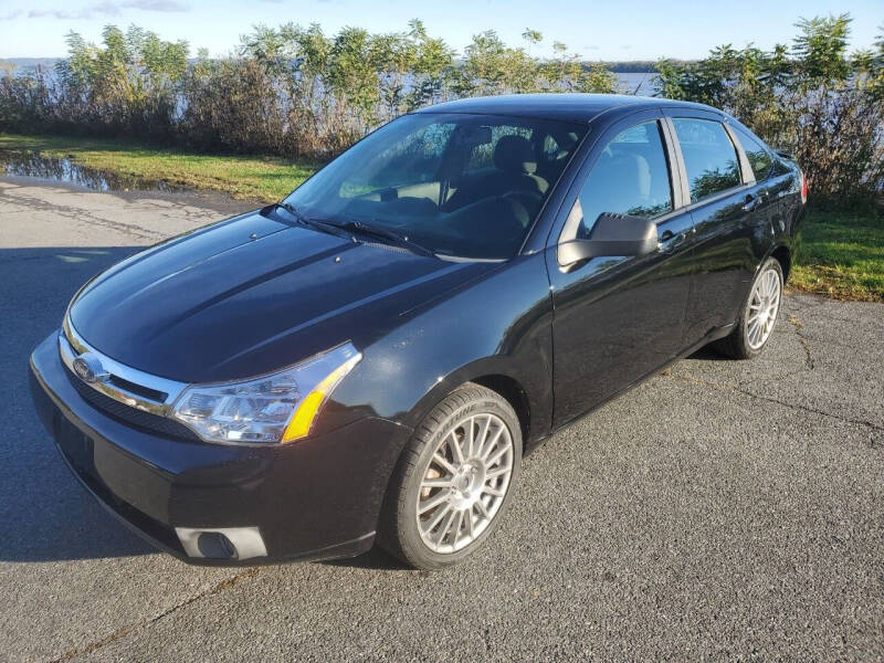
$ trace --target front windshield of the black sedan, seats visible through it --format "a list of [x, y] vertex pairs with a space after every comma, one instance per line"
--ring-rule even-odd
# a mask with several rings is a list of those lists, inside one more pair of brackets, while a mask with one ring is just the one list
[[406, 115], [284, 202], [304, 219], [376, 230], [377, 238], [399, 236], [439, 256], [506, 259], [585, 133], [585, 125], [537, 118]]

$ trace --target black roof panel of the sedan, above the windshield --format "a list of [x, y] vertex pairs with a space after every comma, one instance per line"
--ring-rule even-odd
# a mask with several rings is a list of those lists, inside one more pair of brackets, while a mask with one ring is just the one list
[[627, 94], [505, 94], [499, 96], [470, 97], [427, 106], [418, 113], [475, 113], [480, 115], [509, 115], [516, 117], [540, 117], [570, 122], [590, 122], [601, 113], [629, 114], [645, 108], [681, 106], [702, 110], [714, 110], [711, 106], [690, 102], [676, 102], [656, 97]]

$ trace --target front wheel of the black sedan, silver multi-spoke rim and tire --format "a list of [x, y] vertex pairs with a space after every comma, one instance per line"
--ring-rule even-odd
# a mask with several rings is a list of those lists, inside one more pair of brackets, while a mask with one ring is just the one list
[[424, 570], [472, 555], [509, 506], [522, 471], [522, 445], [518, 417], [506, 399], [472, 382], [457, 388], [427, 415], [403, 450], [387, 490], [378, 543]]

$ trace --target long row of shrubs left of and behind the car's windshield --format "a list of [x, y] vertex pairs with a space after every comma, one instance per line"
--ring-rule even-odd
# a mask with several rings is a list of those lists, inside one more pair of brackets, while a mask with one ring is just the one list
[[[525, 33], [528, 49], [543, 40]], [[256, 27], [223, 60], [185, 42], [114, 25], [103, 44], [71, 32], [55, 75], [0, 77], [0, 129], [129, 136], [204, 150], [327, 158], [379, 124], [427, 104], [507, 92], [613, 92], [613, 74], [583, 66], [564, 44], [532, 57], [493, 31], [463, 61], [420, 21], [371, 34], [318, 25]]]

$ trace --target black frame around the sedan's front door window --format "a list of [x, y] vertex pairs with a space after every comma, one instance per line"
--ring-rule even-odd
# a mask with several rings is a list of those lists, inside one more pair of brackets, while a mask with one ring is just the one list
[[[559, 232], [558, 241], [556, 242], [557, 245], [561, 245], [562, 243], [577, 239], [582, 218], [572, 218], [571, 210], [580, 199], [580, 192], [583, 189], [583, 185], [594, 170], [599, 161], [599, 156], [604, 148], [608, 147], [608, 145], [623, 131], [628, 131], [632, 127], [652, 122], [657, 125], [657, 130], [660, 131], [661, 145], [663, 147], [663, 158], [666, 160], [666, 170], [669, 172], [670, 196], [672, 197], [672, 209], [664, 214], [655, 217], [653, 221], [654, 223], [660, 224], [664, 221], [667, 221], [673, 215], [681, 213], [684, 208], [684, 187], [682, 186], [681, 181], [676, 181], [680, 180], [680, 177], [677, 166], [673, 160], [673, 156], [677, 152], [675, 152], [673, 149], [672, 137], [670, 136], [669, 129], [665, 126], [665, 117], [663, 117], [662, 114], [646, 115], [638, 120], [634, 117], [627, 117], [623, 118], [623, 122], [617, 123], [599, 137], [599, 139], [592, 146], [592, 154], [583, 161], [583, 164], [581, 164], [580, 171], [571, 181], [569, 194], [562, 201], [559, 210], [559, 213], [565, 215], [565, 223]], [[561, 261], [559, 261], [559, 264], [561, 264]]]

